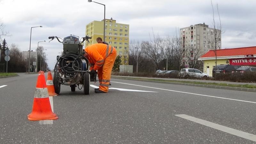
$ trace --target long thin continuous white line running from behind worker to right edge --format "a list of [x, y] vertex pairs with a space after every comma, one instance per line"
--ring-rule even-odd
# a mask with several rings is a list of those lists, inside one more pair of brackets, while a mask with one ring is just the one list
[[[111, 82], [120, 83], [120, 84], [126, 84], [126, 85], [132, 85], [132, 86], [139, 86], [139, 87], [147, 87], [147, 86], [140, 86], [140, 85], [134, 85], [134, 84], [128, 84], [128, 83], [122, 83], [122, 82], [116, 82], [116, 81], [111, 81]], [[167, 91], [178, 92], [178, 93], [184, 93], [184, 94], [191, 94], [191, 95], [200, 95], [200, 96], [214, 97], [214, 98], [220, 98], [220, 99], [226, 99], [226, 100], [233, 100], [233, 101], [239, 101], [239, 102], [256, 103], [256, 102], [251, 102], [251, 101], [243, 101], [243, 100], [230, 99], [230, 98], [218, 97], [218, 96], [211, 96], [211, 95], [201, 95], [201, 94], [188, 93], [188, 92], [181, 92], [181, 91], [170, 90], [170, 89], [163, 89], [163, 88], [157, 88], [157, 87], [148, 87], [148, 88], [154, 88], [154, 89], [160, 89], [160, 90], [167, 90]]]

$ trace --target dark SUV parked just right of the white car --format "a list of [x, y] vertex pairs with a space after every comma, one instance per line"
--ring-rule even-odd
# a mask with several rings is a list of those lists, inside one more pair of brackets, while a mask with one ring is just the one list
[[[240, 67], [241, 66], [239, 65], [220, 64], [220, 65], [217, 65], [216, 73], [217, 74], [232, 73]], [[215, 66], [212, 69], [212, 76], [215, 77]]]

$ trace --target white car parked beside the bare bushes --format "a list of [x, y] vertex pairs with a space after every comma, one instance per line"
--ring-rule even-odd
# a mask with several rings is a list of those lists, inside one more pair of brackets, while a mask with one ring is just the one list
[[181, 69], [180, 76], [184, 76], [185, 78], [189, 77], [197, 77], [207, 79], [209, 77], [208, 74], [203, 73], [197, 69]]

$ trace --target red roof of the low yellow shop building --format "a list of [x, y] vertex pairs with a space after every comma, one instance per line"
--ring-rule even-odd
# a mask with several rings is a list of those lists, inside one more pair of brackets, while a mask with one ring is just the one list
[[[244, 56], [244, 55], [255, 55], [256, 46], [244, 47], [244, 48], [233, 48], [233, 49], [218, 49], [216, 50], [217, 57], [229, 57], [229, 56]], [[210, 50], [200, 58], [204, 57], [215, 57], [214, 50]]]

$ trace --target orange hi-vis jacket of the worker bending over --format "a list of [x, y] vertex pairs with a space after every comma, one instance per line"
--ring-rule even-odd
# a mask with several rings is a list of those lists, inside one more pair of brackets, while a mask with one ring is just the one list
[[90, 70], [94, 69], [96, 71], [103, 66], [106, 57], [116, 52], [116, 49], [110, 45], [96, 43], [86, 47], [85, 52], [88, 54], [88, 60], [91, 63]]

